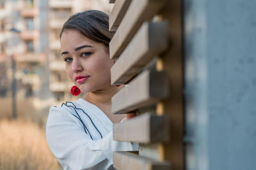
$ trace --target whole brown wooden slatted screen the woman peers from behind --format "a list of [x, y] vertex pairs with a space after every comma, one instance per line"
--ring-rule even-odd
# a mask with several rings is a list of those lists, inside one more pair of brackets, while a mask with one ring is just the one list
[[[138, 154], [115, 152], [116, 169], [184, 169], [182, 4], [119, 0], [109, 15], [112, 113], [138, 113], [113, 125], [113, 139], [138, 142]], [[152, 69], [152, 66], [154, 69]], [[145, 111], [151, 108], [151, 111]], [[142, 113], [141, 113], [142, 112]]]

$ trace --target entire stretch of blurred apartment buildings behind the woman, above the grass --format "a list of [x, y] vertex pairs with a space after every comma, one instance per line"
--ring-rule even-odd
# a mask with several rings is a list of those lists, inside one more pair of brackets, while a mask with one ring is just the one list
[[19, 96], [33, 96], [41, 105], [72, 100], [60, 55], [61, 27], [79, 11], [109, 13], [111, 7], [106, 0], [0, 0], [0, 97], [12, 90], [13, 59]]

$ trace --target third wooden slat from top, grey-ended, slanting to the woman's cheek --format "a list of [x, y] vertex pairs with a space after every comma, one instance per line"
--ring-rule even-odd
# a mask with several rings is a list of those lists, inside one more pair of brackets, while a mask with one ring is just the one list
[[111, 68], [111, 84], [123, 84], [131, 80], [167, 46], [167, 22], [145, 22]]

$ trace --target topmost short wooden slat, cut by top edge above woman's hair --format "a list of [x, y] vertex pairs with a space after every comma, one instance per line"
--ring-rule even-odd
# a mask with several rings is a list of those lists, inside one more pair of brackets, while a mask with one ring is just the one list
[[109, 31], [116, 31], [118, 25], [124, 18], [125, 12], [127, 11], [132, 0], [118, 0], [116, 1], [113, 10], [109, 15]]

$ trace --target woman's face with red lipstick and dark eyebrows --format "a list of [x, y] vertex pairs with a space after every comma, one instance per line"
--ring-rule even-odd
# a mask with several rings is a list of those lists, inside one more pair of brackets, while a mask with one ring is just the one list
[[64, 31], [60, 42], [67, 75], [82, 92], [109, 88], [114, 61], [106, 46], [72, 30]]

